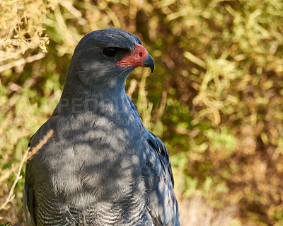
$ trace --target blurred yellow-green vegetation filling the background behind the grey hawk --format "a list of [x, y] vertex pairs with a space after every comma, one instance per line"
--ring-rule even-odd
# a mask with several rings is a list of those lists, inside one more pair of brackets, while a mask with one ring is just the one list
[[7, 172], [57, 105], [74, 47], [120, 28], [156, 62], [126, 88], [166, 143], [183, 225], [197, 225], [186, 217], [194, 196], [207, 206], [198, 214], [235, 207], [230, 225], [283, 225], [282, 12], [280, 0], [1, 0], [0, 220], [25, 225], [23, 179], [2, 205], [16, 180]]

